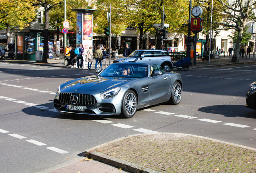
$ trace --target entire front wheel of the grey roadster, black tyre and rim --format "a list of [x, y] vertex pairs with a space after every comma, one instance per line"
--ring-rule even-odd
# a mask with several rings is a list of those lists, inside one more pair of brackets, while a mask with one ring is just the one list
[[137, 110], [137, 97], [134, 91], [128, 90], [122, 101], [122, 111], [120, 117], [132, 118]]

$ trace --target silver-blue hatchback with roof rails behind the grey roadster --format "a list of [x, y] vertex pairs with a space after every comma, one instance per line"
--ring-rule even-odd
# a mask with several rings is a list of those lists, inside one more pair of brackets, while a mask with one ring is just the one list
[[146, 63], [149, 65], [159, 65], [165, 70], [173, 68], [172, 58], [165, 50], [135, 50], [128, 57], [118, 58], [113, 62]]

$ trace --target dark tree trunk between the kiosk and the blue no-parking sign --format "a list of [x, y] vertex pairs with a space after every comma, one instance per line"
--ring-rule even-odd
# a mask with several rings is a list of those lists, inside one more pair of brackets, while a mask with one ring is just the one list
[[50, 10], [45, 7], [44, 8], [44, 27], [43, 27], [43, 60], [42, 63], [47, 63], [48, 55], [48, 41], [49, 41], [49, 12]]

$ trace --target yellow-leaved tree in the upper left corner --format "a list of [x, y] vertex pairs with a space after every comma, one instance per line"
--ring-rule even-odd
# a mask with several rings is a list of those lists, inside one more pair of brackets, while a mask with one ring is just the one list
[[[5, 29], [7, 43], [10, 42], [10, 30], [29, 26], [36, 15], [36, 8], [22, 0], [0, 0], [0, 30]], [[8, 49], [8, 47], [7, 47]]]

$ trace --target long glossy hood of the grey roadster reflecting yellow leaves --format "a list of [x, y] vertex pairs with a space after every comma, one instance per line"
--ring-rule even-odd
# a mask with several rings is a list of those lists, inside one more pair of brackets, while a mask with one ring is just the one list
[[132, 79], [130, 78], [105, 78], [101, 76], [88, 76], [85, 78], [78, 78], [67, 82], [62, 86], [63, 90], [87, 90], [87, 91], [104, 91], [112, 87], [118, 87]]

